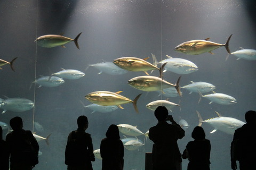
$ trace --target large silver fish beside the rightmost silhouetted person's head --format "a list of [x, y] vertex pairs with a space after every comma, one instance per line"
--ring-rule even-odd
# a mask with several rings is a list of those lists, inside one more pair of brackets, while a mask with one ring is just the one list
[[210, 133], [214, 133], [217, 130], [220, 130], [228, 134], [234, 134], [237, 128], [241, 128], [245, 124], [245, 122], [237, 120], [236, 118], [221, 116], [218, 112], [215, 113], [217, 113], [219, 117], [209, 118], [203, 121], [200, 113], [198, 111], [196, 111], [196, 113], [199, 118], [198, 126], [201, 126], [204, 122], [209, 123], [211, 126], [213, 126], [214, 130]]

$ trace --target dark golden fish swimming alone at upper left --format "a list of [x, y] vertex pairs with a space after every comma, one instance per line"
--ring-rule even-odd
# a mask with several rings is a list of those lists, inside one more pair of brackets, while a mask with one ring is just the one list
[[79, 49], [77, 40], [78, 40], [79, 36], [81, 35], [81, 33], [79, 33], [75, 39], [64, 37], [62, 35], [45, 35], [45, 36], [38, 37], [35, 40], [35, 42], [38, 46], [41, 46], [41, 47], [52, 48], [52, 47], [62, 46], [65, 48], [65, 46], [64, 46], [65, 44], [67, 44], [71, 41], [74, 41], [76, 47]]

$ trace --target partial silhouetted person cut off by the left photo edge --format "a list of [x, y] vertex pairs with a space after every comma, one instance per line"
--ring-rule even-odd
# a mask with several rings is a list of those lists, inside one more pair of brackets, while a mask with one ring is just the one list
[[0, 126], [0, 169], [9, 170], [9, 152], [6, 142], [3, 140], [3, 129]]

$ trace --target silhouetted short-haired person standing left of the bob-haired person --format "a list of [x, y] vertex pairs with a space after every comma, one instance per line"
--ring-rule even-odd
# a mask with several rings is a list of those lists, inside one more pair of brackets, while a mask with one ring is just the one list
[[92, 170], [95, 160], [91, 134], [86, 133], [89, 122], [86, 116], [77, 118], [78, 129], [68, 135], [65, 151], [65, 164], [68, 170]]

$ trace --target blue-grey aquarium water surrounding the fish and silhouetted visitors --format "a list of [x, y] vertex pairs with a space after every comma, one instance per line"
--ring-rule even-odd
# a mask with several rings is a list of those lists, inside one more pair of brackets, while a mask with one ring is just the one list
[[[21, 97], [35, 100], [33, 109], [21, 113], [7, 111], [0, 115], [0, 121], [9, 124], [14, 116], [23, 118], [24, 129], [33, 130], [35, 122], [44, 127], [44, 132], [36, 134], [46, 137], [52, 133], [47, 146], [39, 141], [39, 164], [35, 169], [65, 169], [64, 152], [67, 135], [75, 130], [79, 115], [89, 118], [89, 129], [94, 149], [99, 149], [101, 139], [110, 124], [137, 125], [142, 132], [148, 131], [157, 121], [153, 111], [146, 105], [158, 97], [157, 92], [144, 92], [127, 84], [131, 78], [145, 75], [143, 72], [128, 72], [123, 75], [98, 74], [99, 71], [89, 64], [103, 61], [111, 62], [116, 58], [133, 56], [149, 58], [151, 54], [157, 60], [165, 55], [179, 57], [195, 63], [199, 70], [182, 75], [180, 86], [189, 81], [204, 81], [216, 86], [214, 91], [228, 94], [237, 99], [234, 105], [209, 104], [203, 98], [198, 104], [199, 95], [182, 90], [182, 97], [173, 97], [169, 101], [181, 105], [173, 108], [174, 120], [180, 117], [189, 123], [186, 136], [179, 140], [182, 152], [187, 142], [192, 140], [191, 132], [198, 125], [196, 111], [204, 120], [223, 116], [244, 120], [244, 113], [255, 108], [255, 61], [236, 60], [224, 47], [213, 50], [215, 55], [204, 53], [198, 56], [175, 52], [177, 45], [194, 39], [211, 37], [215, 43], [225, 44], [231, 37], [231, 52], [238, 47], [256, 49], [255, 41], [255, 2], [253, 1], [1, 1], [0, 2], [0, 58], [11, 61], [18, 57], [13, 66], [2, 66], [0, 70], [0, 98]], [[64, 36], [78, 39], [80, 50], [73, 42], [66, 48], [43, 48], [36, 46], [34, 40], [42, 35], [64, 33]], [[61, 69], [75, 69], [85, 73], [78, 80], [65, 80], [58, 87], [47, 88], [31, 86], [31, 82], [41, 75], [58, 72]], [[49, 71], [50, 70], [50, 71]], [[158, 76], [158, 71], [152, 75]], [[165, 72], [164, 79], [174, 83], [179, 75]], [[31, 88], [30, 88], [31, 86]], [[122, 95], [130, 99], [142, 92], [138, 101], [139, 114], [134, 112], [132, 104], [123, 105], [110, 113], [93, 113], [84, 105], [89, 105], [84, 96], [92, 91], [123, 91]], [[210, 93], [209, 93], [210, 94]], [[230, 169], [230, 142], [232, 135], [221, 131], [214, 133], [212, 126], [203, 123], [206, 138], [211, 141], [211, 169]], [[36, 130], [34, 130], [36, 131]], [[6, 130], [5, 130], [6, 132]], [[144, 138], [139, 137], [144, 141]], [[145, 169], [145, 152], [150, 152], [153, 142], [145, 141], [139, 150], [125, 149], [125, 170]], [[183, 160], [182, 169], [187, 169], [187, 160]], [[93, 162], [94, 169], [101, 169], [101, 160]]]

